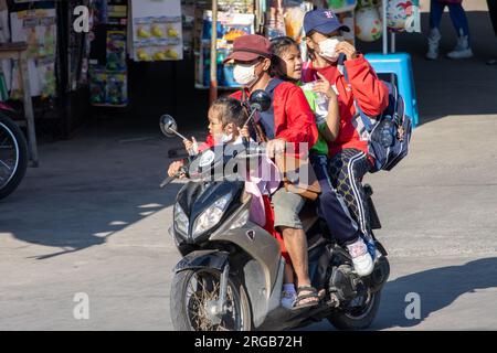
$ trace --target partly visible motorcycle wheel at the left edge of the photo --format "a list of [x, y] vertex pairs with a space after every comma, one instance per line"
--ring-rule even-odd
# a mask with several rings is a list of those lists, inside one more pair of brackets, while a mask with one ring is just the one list
[[28, 168], [28, 143], [21, 129], [0, 113], [0, 200], [11, 194]]

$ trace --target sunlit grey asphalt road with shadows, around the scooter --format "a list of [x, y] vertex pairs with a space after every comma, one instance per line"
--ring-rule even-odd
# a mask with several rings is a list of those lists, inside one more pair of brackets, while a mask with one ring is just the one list
[[[497, 115], [425, 124], [402, 164], [368, 175], [392, 264], [371, 329], [497, 330], [493, 131]], [[158, 189], [171, 142], [95, 131], [42, 146], [41, 167], [0, 203], [1, 330], [171, 329], [167, 228], [181, 184]], [[80, 292], [89, 320], [74, 319]], [[411, 292], [420, 319], [405, 318]]]

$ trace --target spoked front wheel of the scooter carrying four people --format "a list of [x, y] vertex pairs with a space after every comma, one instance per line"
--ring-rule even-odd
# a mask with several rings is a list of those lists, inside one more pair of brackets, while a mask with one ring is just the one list
[[225, 313], [212, 314], [219, 299], [221, 272], [189, 269], [175, 275], [170, 311], [177, 331], [250, 331], [251, 308], [245, 289], [235, 278], [228, 279]]

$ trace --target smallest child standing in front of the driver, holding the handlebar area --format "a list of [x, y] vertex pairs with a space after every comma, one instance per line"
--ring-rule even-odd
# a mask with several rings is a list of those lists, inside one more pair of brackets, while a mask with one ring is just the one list
[[[247, 119], [247, 115], [245, 108], [242, 106], [240, 100], [231, 97], [222, 97], [214, 100], [214, 103], [209, 108], [208, 117], [209, 117], [209, 132], [213, 138], [214, 146], [219, 143], [230, 143], [230, 145], [243, 143], [244, 137], [250, 140], [248, 128], [243, 126], [243, 124], [245, 124]], [[183, 143], [184, 148], [189, 153], [191, 151], [192, 152], [202, 151], [208, 147], [208, 145], [197, 146], [198, 143], [194, 140], [194, 138], [192, 138], [192, 141], [184, 140]], [[260, 168], [271, 168], [271, 165], [269, 167], [260, 165]], [[274, 173], [272, 173], [272, 175]], [[279, 243], [279, 247], [282, 249], [282, 256], [286, 260], [281, 302], [283, 307], [289, 309], [293, 307], [295, 298], [297, 297], [297, 292], [295, 290], [294, 285], [294, 270], [292, 267], [289, 255], [286, 252], [283, 237], [273, 227], [271, 202], [268, 199], [268, 195], [272, 192], [276, 191], [278, 185], [279, 185], [278, 181], [276, 181], [276, 183], [271, 183], [267, 181], [254, 182], [251, 178], [247, 178], [247, 181], [245, 182], [245, 191], [253, 195], [251, 221], [264, 227], [264, 229], [266, 229], [277, 239], [277, 242]], [[260, 211], [261, 207], [263, 212], [262, 220], [258, 215], [255, 215], [253, 212], [254, 208]]]

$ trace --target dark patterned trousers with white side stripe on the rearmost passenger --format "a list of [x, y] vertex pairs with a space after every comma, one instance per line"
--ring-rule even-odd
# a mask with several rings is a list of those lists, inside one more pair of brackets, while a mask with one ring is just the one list
[[371, 169], [368, 156], [357, 149], [345, 149], [329, 162], [331, 183], [343, 197], [361, 232], [369, 238], [370, 217], [362, 178]]

